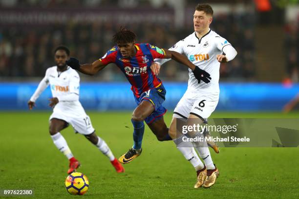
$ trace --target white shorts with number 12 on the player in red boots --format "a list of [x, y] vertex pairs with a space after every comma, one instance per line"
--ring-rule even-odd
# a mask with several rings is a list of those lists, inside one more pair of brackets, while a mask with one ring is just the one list
[[82, 115], [82, 117], [69, 117], [63, 113], [53, 112], [50, 116], [50, 119], [62, 119], [67, 123], [71, 124], [74, 128], [74, 131], [82, 135], [89, 135], [94, 132], [89, 116]]

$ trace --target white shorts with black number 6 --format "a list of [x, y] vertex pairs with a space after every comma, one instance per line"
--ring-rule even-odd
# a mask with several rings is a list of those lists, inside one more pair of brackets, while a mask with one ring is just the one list
[[217, 104], [218, 100], [213, 100], [199, 93], [186, 92], [177, 103], [172, 117], [187, 119], [192, 114], [206, 121], [215, 110]]

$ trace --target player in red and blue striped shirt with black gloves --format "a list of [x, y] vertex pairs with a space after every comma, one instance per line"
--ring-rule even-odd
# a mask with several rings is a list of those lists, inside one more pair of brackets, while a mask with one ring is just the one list
[[79, 60], [70, 58], [67, 65], [87, 75], [95, 75], [109, 63], [115, 63], [125, 74], [131, 84], [131, 90], [137, 103], [132, 114], [134, 127], [134, 144], [129, 151], [119, 158], [121, 163], [129, 163], [137, 158], [141, 152], [142, 138], [144, 134], [145, 121], [150, 130], [160, 141], [171, 140], [168, 128], [164, 122], [163, 115], [166, 109], [162, 106], [165, 100], [166, 90], [162, 81], [150, 70], [154, 59], [173, 59], [188, 66], [194, 73], [195, 78], [200, 81], [210, 82], [210, 74], [195, 67], [187, 57], [166, 49], [160, 49], [149, 43], [135, 43], [136, 35], [132, 31], [121, 28], [113, 36], [117, 43], [101, 59], [92, 64], [79, 64]]

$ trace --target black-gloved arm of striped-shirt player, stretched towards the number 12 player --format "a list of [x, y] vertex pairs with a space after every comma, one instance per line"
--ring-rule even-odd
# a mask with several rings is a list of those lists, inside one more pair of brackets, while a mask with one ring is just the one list
[[95, 75], [106, 66], [102, 63], [101, 60], [96, 60], [93, 63], [86, 63], [80, 65], [79, 60], [77, 60], [76, 58], [70, 58], [66, 61], [66, 64], [71, 68], [80, 71], [81, 73], [84, 73], [86, 75]]

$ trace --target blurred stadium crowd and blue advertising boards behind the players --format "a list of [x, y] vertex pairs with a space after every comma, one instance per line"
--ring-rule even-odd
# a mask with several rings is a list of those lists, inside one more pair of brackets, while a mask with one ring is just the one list
[[[113, 33], [125, 26], [136, 32], [137, 42], [170, 48], [192, 33], [193, 9], [200, 1], [0, 2], [0, 109], [24, 110], [46, 68], [54, 64], [56, 46], [64, 44], [70, 48], [71, 56], [91, 63], [114, 45]], [[221, 64], [217, 110], [281, 110], [299, 90], [297, 1], [209, 2], [215, 13], [212, 29], [238, 52], [234, 61]], [[106, 111], [131, 110], [135, 106], [126, 89], [129, 84], [114, 65], [107, 66], [96, 77], [81, 74], [81, 78], [80, 100], [85, 108]], [[172, 82], [165, 83], [165, 105], [171, 110], [185, 91], [187, 69], [170, 61], [163, 65], [159, 78]], [[37, 101], [37, 109], [48, 109], [49, 97], [48, 89]]]

